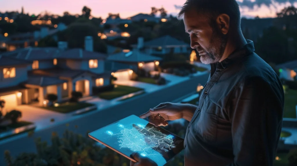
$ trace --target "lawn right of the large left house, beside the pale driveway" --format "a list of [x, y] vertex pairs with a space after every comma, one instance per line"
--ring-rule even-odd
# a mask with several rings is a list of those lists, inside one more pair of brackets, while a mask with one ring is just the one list
[[111, 99], [121, 97], [121, 96], [130, 94], [130, 93], [141, 91], [141, 90], [143, 90], [143, 89], [135, 88], [135, 87], [131, 87], [131, 86], [117, 85], [115, 88], [113, 88], [113, 90], [99, 93], [98, 96], [101, 99], [111, 100]]

